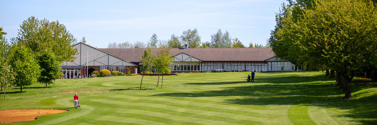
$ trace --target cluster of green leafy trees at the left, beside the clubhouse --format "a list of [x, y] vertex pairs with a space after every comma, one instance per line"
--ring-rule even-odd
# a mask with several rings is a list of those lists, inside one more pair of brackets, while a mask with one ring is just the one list
[[[63, 24], [58, 21], [38, 20], [30, 17], [23, 21], [18, 35], [10, 42], [0, 28], [0, 86], [29, 86], [34, 83], [54, 84], [62, 77], [59, 66], [63, 61], [73, 61], [77, 49], [72, 48], [77, 41]], [[85, 38], [83, 37], [85, 41]]]

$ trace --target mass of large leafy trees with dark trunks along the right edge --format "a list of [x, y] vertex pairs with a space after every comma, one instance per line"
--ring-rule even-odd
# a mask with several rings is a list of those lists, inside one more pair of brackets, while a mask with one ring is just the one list
[[268, 43], [277, 57], [295, 65], [336, 71], [343, 98], [352, 98], [355, 72], [377, 76], [376, 1], [288, 0]]

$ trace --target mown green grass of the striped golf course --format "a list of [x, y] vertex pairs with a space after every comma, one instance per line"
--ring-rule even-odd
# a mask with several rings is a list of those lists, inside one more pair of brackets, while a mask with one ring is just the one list
[[[60, 108], [69, 111], [13, 124], [128, 124], [128, 125], [352, 125], [377, 124], [377, 84], [356, 77], [352, 96], [336, 89], [324, 72], [180, 73], [158, 77], [116, 76], [59, 79], [7, 89], [0, 110]], [[90, 92], [95, 91], [95, 92]], [[81, 108], [73, 108], [78, 93]], [[6, 114], [2, 114], [6, 115]]]

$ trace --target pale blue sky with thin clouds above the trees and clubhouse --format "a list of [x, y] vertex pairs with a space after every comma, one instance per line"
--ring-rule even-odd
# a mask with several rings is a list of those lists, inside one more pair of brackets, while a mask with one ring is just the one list
[[173, 33], [179, 36], [194, 28], [202, 42], [210, 41], [210, 35], [221, 29], [245, 46], [250, 42], [265, 45], [283, 1], [7, 0], [0, 4], [0, 27], [9, 41], [27, 18], [46, 18], [64, 24], [77, 39], [85, 36], [88, 44], [98, 48], [107, 48], [110, 42], [147, 42], [153, 33], [167, 40]]

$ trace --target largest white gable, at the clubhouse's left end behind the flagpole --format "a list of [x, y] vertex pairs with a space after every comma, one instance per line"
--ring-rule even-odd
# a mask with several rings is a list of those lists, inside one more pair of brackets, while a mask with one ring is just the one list
[[136, 66], [83, 43], [73, 48], [77, 48], [78, 54], [74, 55], [77, 58], [73, 62], [63, 62], [60, 66], [85, 66], [86, 61], [88, 66]]

